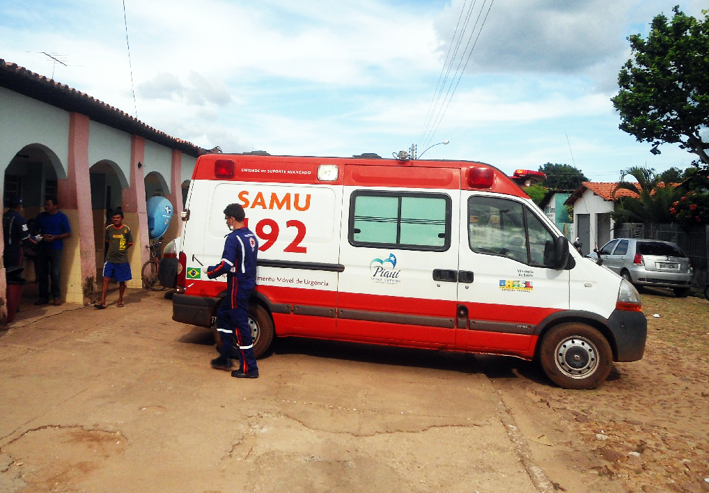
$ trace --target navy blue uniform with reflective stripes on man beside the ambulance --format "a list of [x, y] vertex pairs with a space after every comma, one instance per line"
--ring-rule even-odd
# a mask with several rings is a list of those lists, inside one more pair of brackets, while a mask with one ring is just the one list
[[259, 242], [248, 228], [228, 234], [218, 265], [207, 267], [207, 277], [226, 275], [226, 296], [217, 310], [216, 327], [221, 336], [221, 355], [231, 358], [234, 336], [238, 345], [239, 370], [257, 373], [254, 345], [249, 326], [249, 297], [256, 287], [256, 256]]

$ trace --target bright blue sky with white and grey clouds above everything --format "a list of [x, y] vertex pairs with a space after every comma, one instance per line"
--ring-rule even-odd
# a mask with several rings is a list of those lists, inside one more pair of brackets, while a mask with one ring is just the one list
[[610, 102], [627, 36], [647, 35], [676, 4], [692, 16], [706, 9], [696, 0], [3, 0], [0, 58], [225, 153], [391, 157], [415, 144], [418, 156], [508, 174], [552, 162], [614, 182], [628, 167], [684, 170], [693, 160], [674, 144], [652, 155], [618, 129]]

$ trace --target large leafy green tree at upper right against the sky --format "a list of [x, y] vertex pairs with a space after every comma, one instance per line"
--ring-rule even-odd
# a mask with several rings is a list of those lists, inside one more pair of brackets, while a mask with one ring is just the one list
[[709, 18], [697, 20], [675, 6], [669, 22], [664, 14], [652, 20], [643, 39], [631, 35], [632, 58], [618, 74], [620, 92], [611, 99], [620, 113], [619, 128], [638, 142], [662, 143], [698, 156], [694, 165], [709, 166], [709, 144], [701, 133], [709, 126]]

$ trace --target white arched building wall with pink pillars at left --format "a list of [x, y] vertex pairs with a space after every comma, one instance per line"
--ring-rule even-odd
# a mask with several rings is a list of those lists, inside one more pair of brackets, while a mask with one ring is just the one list
[[[39, 157], [16, 158], [28, 145]], [[129, 255], [133, 272], [129, 286], [142, 286], [140, 267], [147, 257], [145, 175], [152, 172], [152, 178], [159, 176], [164, 195], [178, 203], [169, 230], [174, 238], [182, 226], [181, 185], [191, 177], [195, 162], [196, 157], [0, 87], [2, 177], [9, 166], [11, 175], [22, 176], [23, 196], [31, 198], [33, 204], [24, 213], [30, 219], [42, 210], [46, 179], [56, 175], [60, 209], [72, 225], [72, 237], [65, 240], [62, 256], [61, 291], [65, 301], [96, 301], [108, 202], [124, 206], [125, 222], [135, 239]], [[0, 192], [0, 199], [6, 199], [5, 190]], [[0, 265], [0, 323], [6, 313], [5, 289], [5, 270]]]

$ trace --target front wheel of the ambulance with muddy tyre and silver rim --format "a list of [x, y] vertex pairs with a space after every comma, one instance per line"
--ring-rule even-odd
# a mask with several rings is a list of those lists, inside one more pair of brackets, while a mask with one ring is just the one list
[[613, 367], [608, 340], [585, 323], [562, 323], [542, 337], [542, 369], [562, 389], [595, 389]]

